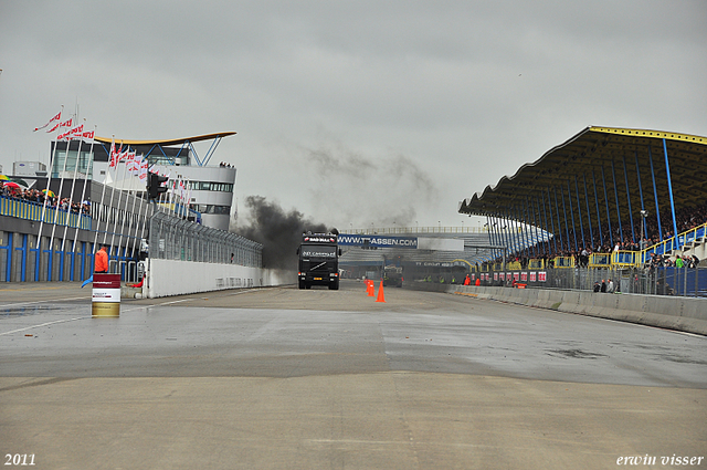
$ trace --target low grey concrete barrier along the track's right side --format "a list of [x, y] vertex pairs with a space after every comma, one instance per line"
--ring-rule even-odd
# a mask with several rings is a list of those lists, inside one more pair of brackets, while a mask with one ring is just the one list
[[707, 335], [707, 299], [700, 297], [474, 285], [447, 285], [445, 292]]

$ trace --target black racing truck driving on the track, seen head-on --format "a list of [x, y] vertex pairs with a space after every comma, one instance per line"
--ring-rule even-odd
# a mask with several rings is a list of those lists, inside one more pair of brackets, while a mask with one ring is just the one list
[[299, 289], [313, 285], [328, 285], [339, 289], [339, 257], [337, 233], [303, 233], [302, 244], [297, 249], [299, 267], [297, 279]]

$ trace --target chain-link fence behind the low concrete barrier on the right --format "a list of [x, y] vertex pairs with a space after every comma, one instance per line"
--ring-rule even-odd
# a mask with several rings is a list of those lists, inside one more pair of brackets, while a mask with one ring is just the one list
[[511, 285], [515, 280], [530, 289], [598, 289], [601, 292], [707, 296], [707, 268], [556, 268], [492, 271], [479, 275], [482, 285]]

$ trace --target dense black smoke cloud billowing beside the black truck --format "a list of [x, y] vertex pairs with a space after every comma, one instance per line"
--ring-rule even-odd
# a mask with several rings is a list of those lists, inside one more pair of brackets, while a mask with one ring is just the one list
[[307, 231], [329, 231], [324, 223], [314, 222], [297, 210], [286, 212], [263, 196], [245, 198], [245, 208], [249, 212], [247, 224], [239, 224], [234, 231], [263, 246], [263, 268], [296, 270], [296, 251], [302, 234]]

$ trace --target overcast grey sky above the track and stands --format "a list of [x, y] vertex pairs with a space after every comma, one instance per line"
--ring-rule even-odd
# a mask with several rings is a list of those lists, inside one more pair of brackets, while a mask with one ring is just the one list
[[707, 135], [706, 25], [705, 0], [0, 0], [0, 165], [48, 161], [32, 129], [77, 102], [101, 136], [235, 130], [211, 164], [241, 210], [477, 223], [460, 200], [587, 126]]

